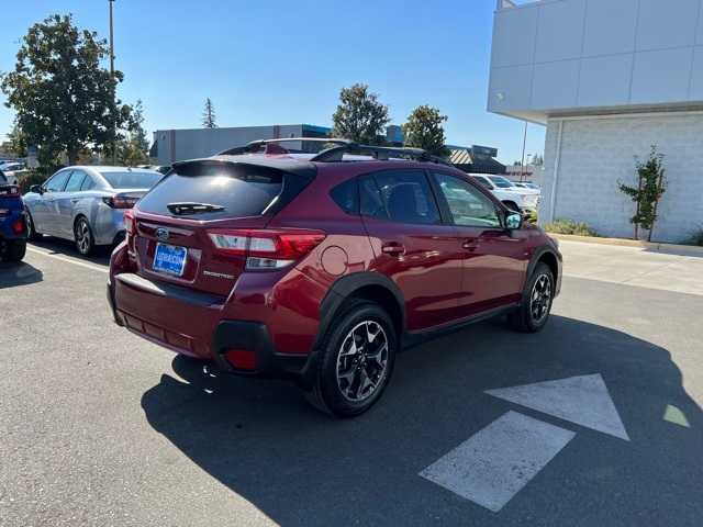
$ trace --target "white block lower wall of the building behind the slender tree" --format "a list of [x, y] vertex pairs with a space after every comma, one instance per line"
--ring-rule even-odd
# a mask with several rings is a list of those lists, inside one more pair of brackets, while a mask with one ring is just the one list
[[637, 186], [634, 157], [646, 158], [652, 144], [666, 155], [668, 182], [654, 239], [681, 242], [703, 227], [703, 113], [549, 120], [540, 222], [569, 217], [605, 236], [632, 237], [635, 205], [620, 192], [617, 181]]

